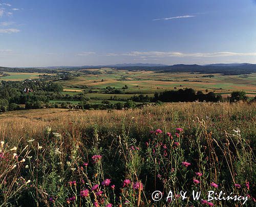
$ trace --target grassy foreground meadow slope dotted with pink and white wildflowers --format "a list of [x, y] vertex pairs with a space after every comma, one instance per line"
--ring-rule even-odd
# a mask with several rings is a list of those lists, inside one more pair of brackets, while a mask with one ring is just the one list
[[[222, 190], [249, 195], [244, 206], [253, 206], [255, 119], [255, 103], [6, 112], [0, 115], [0, 203], [199, 206], [201, 199], [182, 200], [180, 191], [201, 191], [207, 200], [207, 191]], [[155, 190], [164, 195], [158, 202]], [[169, 190], [177, 199], [166, 201]]]

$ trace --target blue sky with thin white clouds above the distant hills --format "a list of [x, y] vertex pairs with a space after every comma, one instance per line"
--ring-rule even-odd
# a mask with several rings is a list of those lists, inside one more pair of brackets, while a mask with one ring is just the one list
[[0, 0], [0, 66], [256, 63], [256, 0]]

